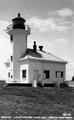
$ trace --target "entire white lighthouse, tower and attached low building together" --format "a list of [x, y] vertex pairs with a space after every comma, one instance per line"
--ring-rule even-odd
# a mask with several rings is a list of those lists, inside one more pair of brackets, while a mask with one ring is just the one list
[[7, 27], [12, 44], [12, 55], [5, 63], [7, 69], [7, 83], [37, 83], [50, 84], [62, 83], [66, 80], [66, 61], [43, 50], [36, 41], [33, 48], [27, 48], [27, 37], [31, 34], [30, 27], [20, 14], [12, 20], [12, 25]]

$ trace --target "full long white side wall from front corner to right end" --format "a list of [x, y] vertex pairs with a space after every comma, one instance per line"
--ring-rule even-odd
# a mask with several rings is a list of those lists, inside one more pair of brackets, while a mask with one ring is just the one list
[[[29, 61], [29, 80], [33, 81], [34, 76], [34, 70], [39, 71], [39, 79], [43, 81], [43, 83], [52, 83], [54, 81], [63, 82], [65, 81], [65, 64], [59, 64], [59, 63], [52, 63], [52, 62], [36, 62], [36, 61]], [[44, 70], [50, 71], [50, 79], [44, 79]], [[56, 78], [55, 72], [56, 71], [63, 71], [64, 72], [64, 78], [59, 79]]]

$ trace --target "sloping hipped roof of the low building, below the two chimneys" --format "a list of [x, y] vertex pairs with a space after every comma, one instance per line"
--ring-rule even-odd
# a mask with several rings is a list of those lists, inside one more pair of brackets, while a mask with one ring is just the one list
[[60, 62], [65, 64], [67, 63], [65, 60], [56, 57], [51, 53], [47, 53], [45, 51], [39, 51], [39, 50], [37, 50], [37, 52], [34, 52], [33, 49], [27, 49], [25, 54], [19, 60], [25, 60], [25, 59]]

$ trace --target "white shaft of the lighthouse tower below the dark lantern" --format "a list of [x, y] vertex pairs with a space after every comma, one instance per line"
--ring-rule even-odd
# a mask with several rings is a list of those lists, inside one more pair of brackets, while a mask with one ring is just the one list
[[13, 35], [13, 79], [20, 82], [20, 57], [27, 49], [27, 31], [23, 29], [12, 29], [8, 31], [9, 35]]

